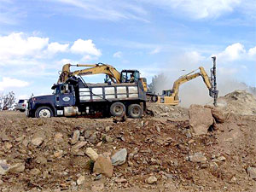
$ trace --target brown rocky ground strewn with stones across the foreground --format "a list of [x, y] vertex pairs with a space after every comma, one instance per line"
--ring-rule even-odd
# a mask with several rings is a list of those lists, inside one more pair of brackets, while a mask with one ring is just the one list
[[150, 105], [124, 122], [0, 112], [0, 189], [256, 191], [256, 117], [226, 106]]

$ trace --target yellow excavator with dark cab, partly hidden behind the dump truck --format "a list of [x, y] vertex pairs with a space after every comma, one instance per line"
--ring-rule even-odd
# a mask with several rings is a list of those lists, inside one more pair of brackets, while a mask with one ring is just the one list
[[[82, 70], [70, 71], [70, 67], [88, 67]], [[62, 67], [62, 71], [60, 77], [58, 79], [58, 84], [64, 83], [68, 78], [74, 76], [84, 76], [84, 75], [95, 75], [95, 74], [106, 74], [105, 83], [112, 82], [115, 84], [121, 83], [137, 83], [139, 81], [143, 84], [143, 91], [147, 92], [147, 79], [141, 78], [138, 70], [133, 69], [125, 69], [122, 70], [121, 73], [115, 69], [115, 67], [104, 64], [65, 64]]]

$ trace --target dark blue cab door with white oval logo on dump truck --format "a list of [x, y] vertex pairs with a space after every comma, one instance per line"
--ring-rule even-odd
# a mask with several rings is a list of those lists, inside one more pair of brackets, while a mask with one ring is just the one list
[[61, 107], [74, 106], [75, 101], [73, 85], [62, 84], [60, 86], [60, 92], [56, 96], [56, 105]]

